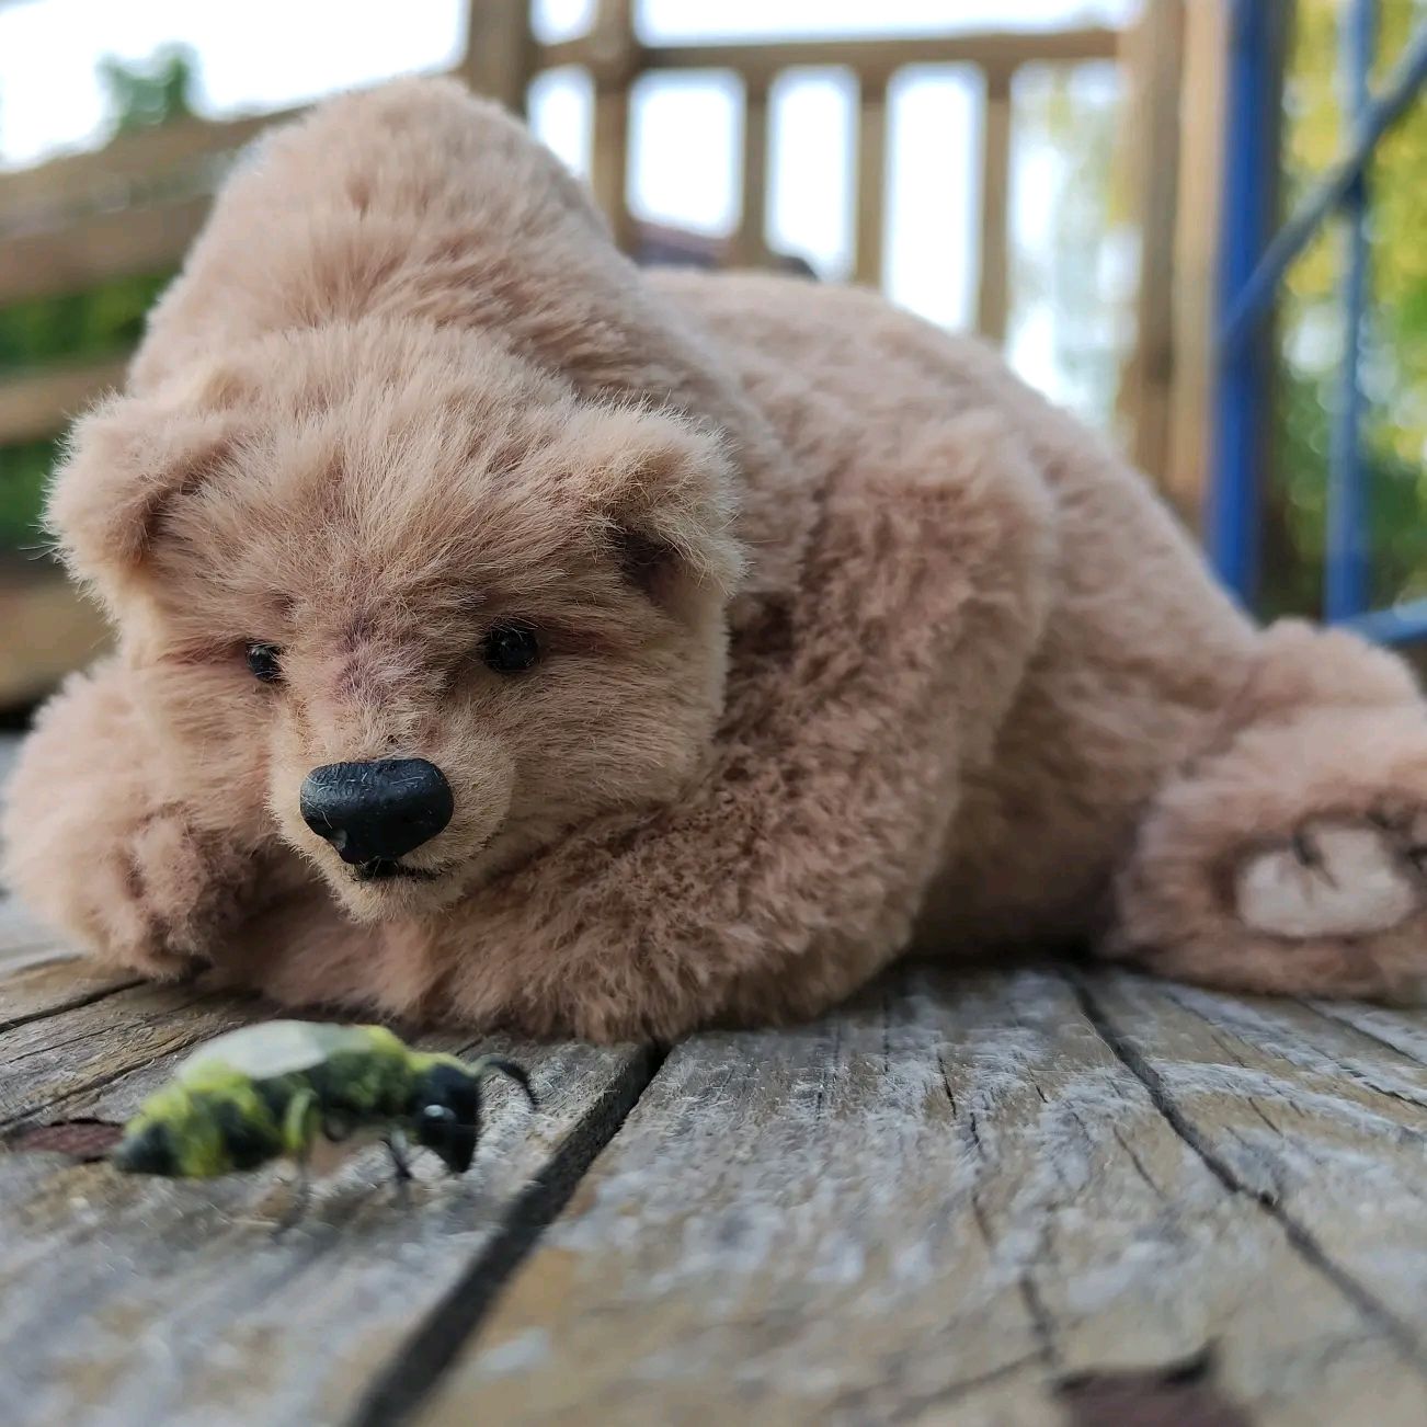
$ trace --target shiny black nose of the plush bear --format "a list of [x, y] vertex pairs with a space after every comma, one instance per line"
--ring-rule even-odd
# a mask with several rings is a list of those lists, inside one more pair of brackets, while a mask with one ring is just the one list
[[303, 821], [342, 862], [394, 862], [430, 842], [450, 821], [451, 785], [424, 758], [328, 763], [303, 782]]

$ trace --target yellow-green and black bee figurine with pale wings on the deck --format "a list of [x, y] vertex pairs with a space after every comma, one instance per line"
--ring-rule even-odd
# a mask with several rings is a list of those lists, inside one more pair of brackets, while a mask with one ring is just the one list
[[[411, 1179], [405, 1137], [464, 1174], [481, 1126], [481, 1082], [509, 1076], [538, 1107], [522, 1066], [412, 1050], [384, 1026], [270, 1020], [201, 1046], [124, 1126], [110, 1154], [130, 1174], [211, 1179], [287, 1157], [298, 1167], [301, 1217], [320, 1140], [380, 1137], [397, 1183]], [[284, 1224], [285, 1227], [285, 1224]]]

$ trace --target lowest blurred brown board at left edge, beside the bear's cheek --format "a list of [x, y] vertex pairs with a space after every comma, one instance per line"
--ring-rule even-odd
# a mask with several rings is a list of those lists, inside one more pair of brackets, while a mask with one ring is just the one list
[[98, 608], [53, 568], [0, 579], [0, 708], [49, 694], [66, 674], [106, 651]]

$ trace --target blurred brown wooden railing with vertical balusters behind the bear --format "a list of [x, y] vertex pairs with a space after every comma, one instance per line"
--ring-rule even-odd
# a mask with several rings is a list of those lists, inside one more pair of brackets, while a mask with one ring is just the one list
[[[970, 66], [983, 78], [986, 104], [976, 325], [999, 341], [1006, 332], [1010, 304], [1013, 80], [1027, 64], [1070, 66], [1093, 60], [1124, 64], [1136, 116], [1133, 204], [1144, 281], [1122, 420], [1134, 457], [1153, 475], [1164, 477], [1179, 360], [1173, 271], [1186, 4], [1187, 0], [1147, 0], [1143, 21], [1126, 34], [1086, 27], [1055, 33], [651, 46], [641, 43], [635, 31], [634, 0], [598, 0], [588, 34], [552, 44], [537, 43], [531, 36], [525, 0], [469, 0], [469, 37], [457, 73], [512, 108], [524, 106], [529, 83], [545, 70], [579, 66], [589, 73], [595, 94], [589, 183], [616, 240], [631, 250], [636, 234], [625, 195], [632, 81], [649, 73], [732, 71], [743, 86], [745, 123], [741, 218], [728, 254], [741, 264], [758, 265], [769, 261], [765, 221], [771, 87], [796, 67], [850, 70], [858, 83], [853, 277], [880, 285], [889, 83], [913, 64]], [[177, 265], [204, 221], [225, 166], [264, 127], [284, 117], [183, 121], [123, 137], [100, 151], [0, 174], [0, 307]], [[80, 367], [0, 372], [0, 448], [54, 434], [93, 397], [117, 384], [121, 372], [123, 354]], [[6, 692], [0, 671], [0, 702]]]

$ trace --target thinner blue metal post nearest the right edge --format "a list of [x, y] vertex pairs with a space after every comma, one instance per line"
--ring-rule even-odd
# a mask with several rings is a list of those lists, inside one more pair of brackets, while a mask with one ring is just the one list
[[[1371, 93], [1368, 76], [1377, 40], [1377, 0], [1351, 0], [1343, 29], [1343, 147], [1357, 138]], [[1371, 534], [1363, 469], [1363, 384], [1360, 364], [1367, 323], [1367, 174], [1360, 170], [1343, 200], [1347, 261], [1343, 275], [1343, 365], [1339, 372], [1333, 444], [1329, 454], [1327, 568], [1324, 614], [1349, 619], [1368, 604]]]

